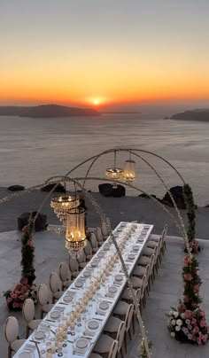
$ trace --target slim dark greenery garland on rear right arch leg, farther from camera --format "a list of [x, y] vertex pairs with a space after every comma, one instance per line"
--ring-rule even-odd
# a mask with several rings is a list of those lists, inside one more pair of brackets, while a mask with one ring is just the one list
[[[190, 243], [190, 249], [192, 253], [198, 253], [201, 249], [198, 245], [198, 241], [195, 239], [196, 235], [196, 214], [195, 214], [195, 203], [193, 194], [189, 184], [183, 185], [183, 198], [187, 210], [187, 217], [188, 217], [188, 230], [187, 230], [187, 237]], [[185, 248], [185, 252], [187, 252]]]

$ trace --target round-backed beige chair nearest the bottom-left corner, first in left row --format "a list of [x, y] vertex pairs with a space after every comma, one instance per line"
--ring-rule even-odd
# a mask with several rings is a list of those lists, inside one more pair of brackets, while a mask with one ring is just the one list
[[17, 352], [19, 348], [26, 342], [26, 339], [19, 339], [19, 323], [17, 318], [10, 316], [4, 323], [4, 337], [7, 340], [8, 358], [12, 357], [12, 352]]

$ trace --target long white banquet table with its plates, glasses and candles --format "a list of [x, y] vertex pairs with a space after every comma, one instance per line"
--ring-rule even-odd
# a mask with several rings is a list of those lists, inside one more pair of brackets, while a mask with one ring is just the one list
[[[112, 231], [129, 275], [152, 228], [153, 225], [120, 222]], [[127, 278], [122, 271], [112, 238], [108, 237], [14, 357], [88, 358], [126, 284]], [[80, 307], [80, 315], [74, 314], [77, 307]], [[75, 317], [71, 318], [70, 325], [66, 324], [65, 317], [69, 318], [72, 312]], [[56, 330], [64, 322], [68, 326], [64, 344], [61, 348], [59, 346], [56, 353], [50, 354], [47, 347], [55, 345]]]

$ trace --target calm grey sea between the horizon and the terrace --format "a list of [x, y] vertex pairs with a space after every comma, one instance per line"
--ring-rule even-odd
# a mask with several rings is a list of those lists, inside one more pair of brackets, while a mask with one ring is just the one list
[[[0, 186], [41, 184], [52, 175], [65, 175], [99, 152], [135, 148], [170, 161], [190, 183], [197, 204], [205, 206], [209, 203], [208, 138], [209, 123], [143, 120], [142, 114], [137, 113], [56, 119], [0, 116]], [[168, 187], [182, 184], [162, 160], [148, 154], [143, 157], [158, 170]], [[128, 159], [128, 153], [118, 153], [117, 167], [123, 167]], [[161, 198], [165, 188], [158, 177], [142, 160], [135, 161], [135, 186]], [[105, 168], [112, 165], [113, 154], [105, 155], [97, 160], [90, 175], [104, 177]], [[74, 176], [85, 175], [87, 169], [88, 165], [80, 167]], [[89, 181], [86, 186], [97, 191], [98, 183]], [[138, 194], [127, 190], [127, 195]]]

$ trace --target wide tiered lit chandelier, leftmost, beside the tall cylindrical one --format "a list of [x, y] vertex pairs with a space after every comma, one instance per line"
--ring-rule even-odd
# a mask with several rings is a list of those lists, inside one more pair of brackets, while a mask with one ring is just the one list
[[66, 226], [66, 213], [72, 207], [79, 206], [79, 198], [75, 196], [63, 196], [52, 198], [50, 206], [53, 207], [55, 214], [57, 214], [60, 222]]

